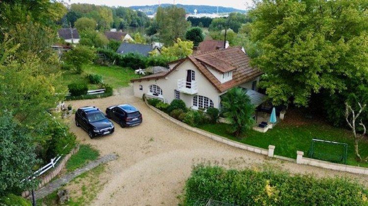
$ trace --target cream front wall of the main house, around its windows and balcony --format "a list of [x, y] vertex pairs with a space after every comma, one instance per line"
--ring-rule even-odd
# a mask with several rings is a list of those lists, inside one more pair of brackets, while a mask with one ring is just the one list
[[[197, 81], [198, 93], [194, 95], [180, 93], [180, 99], [183, 100], [188, 107], [194, 108], [193, 97], [196, 95], [204, 96], [213, 102], [213, 106], [215, 108], [219, 108], [220, 98], [218, 91], [189, 60], [186, 60], [184, 63], [182, 63], [166, 78], [134, 81], [134, 96], [141, 98], [145, 93], [148, 98], [158, 98], [165, 103], [171, 103], [171, 101], [175, 99], [175, 90], [178, 89], [178, 80], [183, 78], [186, 79], [186, 70], [193, 70], [195, 72], [195, 81]], [[142, 90], [139, 89], [140, 85], [142, 85]], [[158, 85], [162, 89], [162, 96], [154, 96], [150, 94], [150, 85]]]

